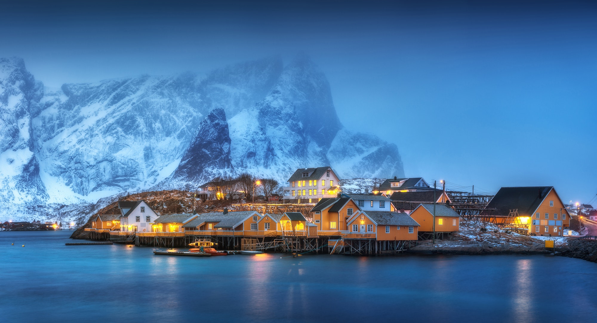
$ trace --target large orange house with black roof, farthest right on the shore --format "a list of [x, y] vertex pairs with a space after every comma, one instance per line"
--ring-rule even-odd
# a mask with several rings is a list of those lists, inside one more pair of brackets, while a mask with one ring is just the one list
[[553, 186], [501, 187], [481, 216], [498, 223], [514, 218], [533, 235], [558, 236], [570, 226], [570, 213]]

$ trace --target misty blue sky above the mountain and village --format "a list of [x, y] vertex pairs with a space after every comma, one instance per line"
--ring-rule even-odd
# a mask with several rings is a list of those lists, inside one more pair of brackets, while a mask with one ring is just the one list
[[597, 193], [592, 2], [2, 6], [0, 56], [23, 57], [47, 86], [304, 51], [328, 76], [340, 120], [396, 143], [407, 176], [478, 192], [553, 185], [565, 202]]

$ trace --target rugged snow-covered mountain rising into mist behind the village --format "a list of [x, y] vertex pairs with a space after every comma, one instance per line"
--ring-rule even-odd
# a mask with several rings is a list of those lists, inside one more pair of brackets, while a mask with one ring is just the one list
[[343, 178], [404, 173], [395, 144], [341, 125], [330, 84], [304, 55], [60, 89], [23, 60], [0, 59], [0, 220], [242, 171], [284, 182], [321, 165]]

